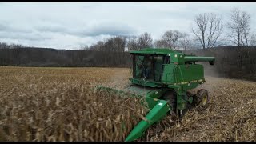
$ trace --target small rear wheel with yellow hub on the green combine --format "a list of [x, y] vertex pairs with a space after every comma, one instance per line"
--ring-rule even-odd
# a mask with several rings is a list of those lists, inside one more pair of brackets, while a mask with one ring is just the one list
[[198, 94], [193, 98], [194, 106], [198, 106], [199, 110], [206, 110], [209, 106], [209, 93], [205, 89], [198, 90]]

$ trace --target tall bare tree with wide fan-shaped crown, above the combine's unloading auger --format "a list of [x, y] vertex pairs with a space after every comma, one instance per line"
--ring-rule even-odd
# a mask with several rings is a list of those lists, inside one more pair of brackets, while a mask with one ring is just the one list
[[192, 27], [192, 32], [196, 36], [202, 48], [214, 47], [222, 34], [222, 18], [218, 14], [198, 14], [194, 18], [196, 26]]

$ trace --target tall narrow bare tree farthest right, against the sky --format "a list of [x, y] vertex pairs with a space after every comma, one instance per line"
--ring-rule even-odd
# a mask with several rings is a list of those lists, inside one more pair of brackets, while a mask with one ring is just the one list
[[230, 14], [230, 22], [227, 27], [231, 30], [230, 41], [237, 46], [248, 46], [250, 30], [250, 15], [245, 11], [234, 8]]

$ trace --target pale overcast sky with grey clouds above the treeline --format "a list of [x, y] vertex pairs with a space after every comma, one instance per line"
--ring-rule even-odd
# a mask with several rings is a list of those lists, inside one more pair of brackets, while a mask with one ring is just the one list
[[256, 24], [256, 3], [0, 3], [0, 42], [56, 49], [77, 49], [113, 35], [151, 34], [154, 40], [166, 30], [191, 34], [194, 16], [218, 13], [229, 18], [234, 7]]

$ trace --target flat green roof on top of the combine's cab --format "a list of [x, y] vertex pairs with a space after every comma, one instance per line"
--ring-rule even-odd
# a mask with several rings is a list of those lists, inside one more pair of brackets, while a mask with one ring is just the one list
[[142, 50], [131, 50], [130, 54], [170, 54], [170, 53], [182, 53], [180, 50], [164, 49], [164, 48], [145, 48]]

